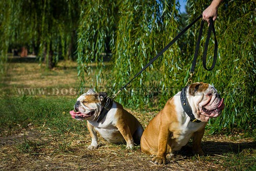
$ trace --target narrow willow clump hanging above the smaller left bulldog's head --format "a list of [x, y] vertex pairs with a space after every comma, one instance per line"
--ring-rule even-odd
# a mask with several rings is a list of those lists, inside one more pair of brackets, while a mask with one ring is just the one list
[[[83, 1], [78, 31], [78, 77], [81, 87], [86, 82], [85, 74], [90, 74], [91, 61], [96, 62], [96, 83], [102, 82], [103, 56], [110, 53], [114, 44], [116, 1]], [[82, 89], [81, 89], [82, 90]]]

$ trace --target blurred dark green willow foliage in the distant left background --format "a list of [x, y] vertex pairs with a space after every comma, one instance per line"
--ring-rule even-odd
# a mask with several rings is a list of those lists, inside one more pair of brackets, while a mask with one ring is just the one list
[[73, 1], [1, 1], [1, 58], [8, 48], [27, 46], [37, 49], [40, 60], [52, 68], [59, 57], [68, 59], [74, 53], [75, 30], [80, 2]]

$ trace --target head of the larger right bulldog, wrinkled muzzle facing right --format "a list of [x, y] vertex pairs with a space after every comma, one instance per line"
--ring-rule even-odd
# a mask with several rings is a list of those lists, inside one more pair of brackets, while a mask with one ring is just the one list
[[187, 96], [196, 119], [207, 122], [210, 118], [218, 117], [224, 109], [224, 99], [210, 84], [197, 82], [189, 86]]

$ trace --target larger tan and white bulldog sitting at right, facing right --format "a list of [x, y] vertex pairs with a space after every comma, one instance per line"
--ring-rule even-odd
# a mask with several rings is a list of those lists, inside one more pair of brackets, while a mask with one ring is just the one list
[[181, 92], [166, 102], [163, 110], [148, 123], [140, 142], [144, 153], [156, 155], [152, 159], [156, 164], [165, 164], [166, 154], [174, 155], [191, 137], [193, 152], [204, 155], [201, 140], [205, 125], [210, 118], [219, 116], [224, 109], [223, 99], [210, 84], [193, 83], [183, 92], [186, 92], [183, 93], [184, 97], [190, 105], [191, 115], [197, 122], [194, 119], [194, 122], [191, 121], [183, 110], [182, 105], [188, 104], [181, 103]]

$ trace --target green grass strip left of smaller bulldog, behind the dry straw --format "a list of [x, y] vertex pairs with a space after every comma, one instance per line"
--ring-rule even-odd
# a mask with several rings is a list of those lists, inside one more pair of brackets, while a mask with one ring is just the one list
[[[84, 122], [76, 122], [69, 111], [73, 110], [74, 97], [9, 97], [1, 99], [1, 132], [6, 134], [28, 128], [29, 125], [48, 127], [56, 134], [82, 131]], [[3, 132], [4, 133], [4, 132]]]

